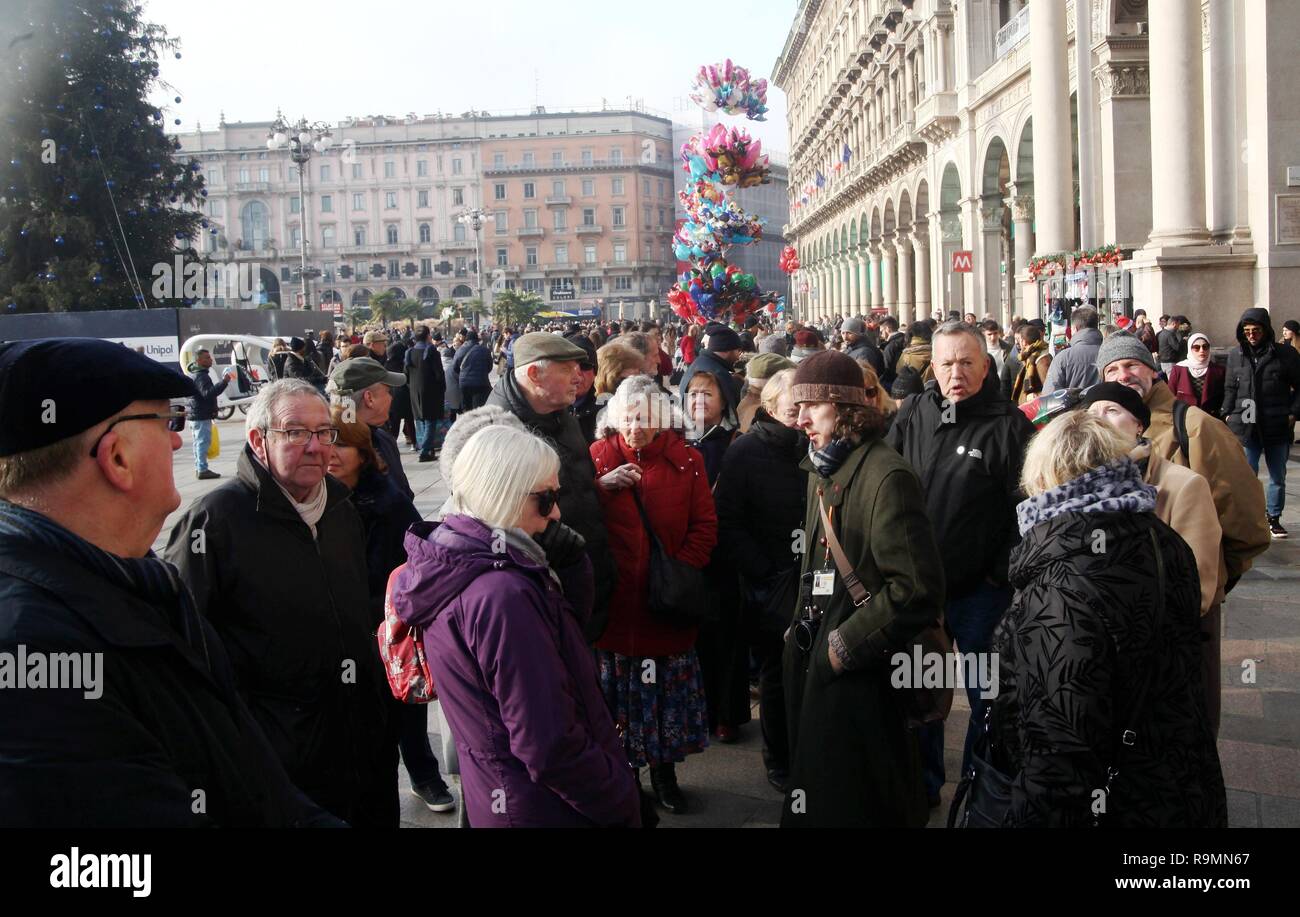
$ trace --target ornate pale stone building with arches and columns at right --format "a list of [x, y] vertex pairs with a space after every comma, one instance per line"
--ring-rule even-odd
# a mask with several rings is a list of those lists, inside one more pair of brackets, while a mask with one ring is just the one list
[[802, 0], [774, 69], [801, 313], [1037, 316], [1031, 259], [1113, 243], [1132, 306], [1216, 343], [1295, 315], [1296, 34], [1275, 0]]

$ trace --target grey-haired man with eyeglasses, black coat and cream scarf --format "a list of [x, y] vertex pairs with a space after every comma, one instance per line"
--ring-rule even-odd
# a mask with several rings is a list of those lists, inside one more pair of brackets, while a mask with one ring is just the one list
[[190, 506], [166, 557], [294, 783], [356, 827], [396, 827], [380, 622], [360, 516], [325, 473], [329, 406], [311, 382], [281, 380], [257, 393], [246, 428], [235, 479]]

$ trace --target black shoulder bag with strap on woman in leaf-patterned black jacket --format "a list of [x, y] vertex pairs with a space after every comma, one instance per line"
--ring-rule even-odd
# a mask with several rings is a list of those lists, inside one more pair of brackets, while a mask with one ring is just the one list
[[[1160, 645], [1165, 626], [1165, 555], [1160, 550], [1160, 541], [1156, 538], [1156, 529], [1149, 528], [1150, 546], [1156, 552], [1156, 645]], [[1128, 711], [1128, 722], [1138, 723], [1147, 706], [1147, 691], [1152, 678], [1143, 682], [1138, 691], [1138, 698]], [[957, 793], [953, 796], [953, 805], [948, 810], [948, 827], [1002, 827], [1006, 814], [1011, 809], [1011, 778], [993, 766], [992, 758], [992, 719], [993, 705], [984, 710], [984, 728], [975, 738], [971, 747], [971, 766], [962, 775], [962, 782], [957, 784]], [[1119, 765], [1124, 756], [1124, 748], [1138, 743], [1135, 730], [1123, 730], [1115, 743], [1114, 753], [1110, 756], [1110, 766], [1106, 767], [1106, 799], [1115, 778], [1119, 777]], [[962, 801], [966, 810], [962, 812]], [[1092, 817], [1092, 826], [1098, 827], [1101, 816]]]

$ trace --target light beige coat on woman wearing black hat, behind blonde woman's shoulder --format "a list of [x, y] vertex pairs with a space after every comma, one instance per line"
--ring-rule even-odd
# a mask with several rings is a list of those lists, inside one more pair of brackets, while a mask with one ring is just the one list
[[1149, 457], [1144, 481], [1156, 488], [1156, 518], [1183, 536], [1196, 555], [1201, 580], [1201, 614], [1223, 601], [1223, 565], [1219, 562], [1223, 528], [1214, 510], [1209, 481], [1191, 468], [1150, 455], [1144, 444], [1132, 451], [1134, 460]]

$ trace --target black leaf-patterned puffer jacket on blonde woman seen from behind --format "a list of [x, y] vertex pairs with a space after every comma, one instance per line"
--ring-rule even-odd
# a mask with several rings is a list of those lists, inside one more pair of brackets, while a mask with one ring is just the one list
[[[1098, 532], [1102, 552], [1093, 550]], [[1153, 512], [1065, 512], [1026, 533], [1011, 584], [1015, 601], [993, 644], [994, 762], [1014, 775], [1009, 826], [1091, 825], [1119, 735], [1131, 728], [1136, 743], [1124, 747], [1101, 825], [1226, 827], [1187, 542]]]

